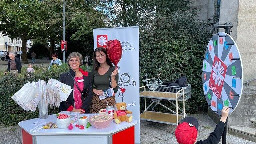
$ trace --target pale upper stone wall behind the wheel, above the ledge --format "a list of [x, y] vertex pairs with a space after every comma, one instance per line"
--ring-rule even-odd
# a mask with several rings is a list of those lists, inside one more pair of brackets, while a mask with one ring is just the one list
[[[255, 6], [256, 0], [222, 0], [220, 7], [220, 24], [233, 24], [230, 35], [236, 41], [242, 57], [244, 81], [256, 78]], [[224, 29], [219, 31], [225, 32]]]

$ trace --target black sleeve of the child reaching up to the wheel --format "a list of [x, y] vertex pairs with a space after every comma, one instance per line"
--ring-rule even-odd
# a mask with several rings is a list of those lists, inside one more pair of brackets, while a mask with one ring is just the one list
[[206, 140], [198, 141], [196, 144], [218, 144], [220, 142], [220, 138], [224, 131], [225, 123], [220, 121], [218, 125], [216, 125], [215, 130], [210, 133], [209, 137]]

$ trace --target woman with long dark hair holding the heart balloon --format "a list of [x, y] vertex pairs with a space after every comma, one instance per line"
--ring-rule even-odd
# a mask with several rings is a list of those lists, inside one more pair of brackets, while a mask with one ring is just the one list
[[105, 109], [107, 105], [114, 106], [116, 104], [115, 96], [102, 100], [99, 98], [100, 95], [104, 95], [104, 90], [113, 88], [114, 93], [118, 91], [118, 70], [113, 67], [106, 49], [103, 47], [98, 47], [93, 52], [93, 69], [90, 77], [93, 85], [90, 113], [98, 113], [100, 109]]

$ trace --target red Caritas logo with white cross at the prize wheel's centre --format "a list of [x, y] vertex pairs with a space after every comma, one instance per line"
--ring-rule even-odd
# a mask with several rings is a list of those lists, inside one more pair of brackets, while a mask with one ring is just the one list
[[227, 65], [215, 55], [213, 60], [209, 86], [213, 93], [216, 94], [218, 99], [220, 99], [221, 96], [221, 91], [223, 88], [226, 72]]

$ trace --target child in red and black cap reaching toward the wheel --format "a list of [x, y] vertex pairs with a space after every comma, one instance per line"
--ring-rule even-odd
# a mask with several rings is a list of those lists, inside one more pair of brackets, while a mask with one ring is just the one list
[[197, 141], [198, 121], [193, 117], [185, 117], [175, 130], [175, 137], [179, 144], [218, 144], [224, 131], [225, 123], [230, 108], [223, 107], [221, 110], [221, 118], [215, 130], [210, 133], [205, 140]]

